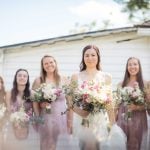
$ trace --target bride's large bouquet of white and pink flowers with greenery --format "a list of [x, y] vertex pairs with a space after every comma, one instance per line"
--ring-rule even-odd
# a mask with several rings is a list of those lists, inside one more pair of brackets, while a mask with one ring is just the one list
[[100, 82], [84, 81], [80, 86], [72, 83], [68, 94], [72, 95], [73, 105], [94, 113], [106, 108], [106, 104], [110, 102], [110, 91], [109, 86]]

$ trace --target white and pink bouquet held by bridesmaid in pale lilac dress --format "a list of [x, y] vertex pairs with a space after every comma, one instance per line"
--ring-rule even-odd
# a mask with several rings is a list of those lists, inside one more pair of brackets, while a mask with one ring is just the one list
[[33, 91], [32, 101], [48, 102], [46, 105], [46, 112], [50, 113], [51, 111], [50, 103], [57, 100], [61, 92], [62, 92], [61, 89], [55, 88], [51, 84], [43, 83], [38, 89]]

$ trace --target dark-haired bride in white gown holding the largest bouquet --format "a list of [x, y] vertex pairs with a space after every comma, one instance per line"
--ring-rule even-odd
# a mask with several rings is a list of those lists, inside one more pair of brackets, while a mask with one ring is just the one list
[[[75, 103], [73, 98], [68, 98], [68, 104], [71, 108], [68, 114], [68, 127], [70, 132], [73, 132], [73, 135], [80, 139], [80, 146], [86, 150], [98, 150], [100, 147], [103, 147], [102, 149], [107, 147], [106, 149], [108, 149], [108, 128], [115, 123], [114, 111], [111, 104], [111, 76], [101, 71], [100, 61], [98, 47], [87, 45], [82, 52], [80, 72], [73, 74], [71, 78], [72, 83], [77, 83], [78, 89], [83, 88], [86, 82], [93, 82], [101, 87], [100, 90], [103, 92], [102, 95], [107, 96], [107, 103], [105, 103], [104, 109], [98, 109], [94, 113], [91, 113], [91, 111], [95, 108], [89, 107], [87, 109], [85, 106], [83, 107], [83, 104]], [[103, 87], [107, 90], [103, 90]], [[94, 87], [92, 89], [94, 90]], [[95, 94], [99, 96], [98, 93]], [[102, 101], [105, 100], [103, 99]], [[105, 144], [102, 144], [103, 141], [105, 141]]]

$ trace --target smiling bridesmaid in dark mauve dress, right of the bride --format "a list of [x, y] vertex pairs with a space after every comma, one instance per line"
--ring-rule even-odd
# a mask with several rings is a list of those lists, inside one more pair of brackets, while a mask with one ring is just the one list
[[[143, 92], [146, 83], [142, 77], [140, 60], [130, 57], [127, 60], [124, 80], [119, 84], [119, 88], [135, 86], [138, 86]], [[131, 110], [131, 119], [124, 118], [124, 114], [127, 114], [128, 110]], [[147, 115], [144, 104], [127, 106], [121, 102], [118, 108], [117, 123], [127, 136], [127, 150], [147, 150]]]

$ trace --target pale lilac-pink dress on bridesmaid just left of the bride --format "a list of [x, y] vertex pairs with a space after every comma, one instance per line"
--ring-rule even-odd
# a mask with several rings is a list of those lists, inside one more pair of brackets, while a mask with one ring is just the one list
[[58, 136], [67, 133], [66, 99], [64, 94], [60, 94], [56, 101], [51, 103], [51, 112], [46, 113], [41, 110], [41, 117], [44, 123], [39, 126], [40, 150], [55, 150]]

